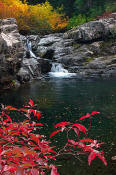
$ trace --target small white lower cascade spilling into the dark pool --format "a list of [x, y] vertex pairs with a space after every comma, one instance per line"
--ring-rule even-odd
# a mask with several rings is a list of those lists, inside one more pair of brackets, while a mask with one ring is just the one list
[[76, 73], [69, 73], [68, 70], [64, 69], [61, 63], [52, 63], [51, 72], [49, 72], [51, 77], [64, 77], [69, 78], [75, 76]]

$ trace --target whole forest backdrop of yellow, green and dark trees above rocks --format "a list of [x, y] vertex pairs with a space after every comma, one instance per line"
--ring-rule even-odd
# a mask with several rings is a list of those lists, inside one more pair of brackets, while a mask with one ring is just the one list
[[31, 33], [62, 32], [115, 11], [115, 0], [0, 0], [0, 18], [15, 17]]

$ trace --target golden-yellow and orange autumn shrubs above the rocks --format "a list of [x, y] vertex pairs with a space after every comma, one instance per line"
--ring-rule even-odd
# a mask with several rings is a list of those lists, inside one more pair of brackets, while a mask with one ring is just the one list
[[16, 18], [19, 30], [35, 32], [58, 31], [66, 28], [64, 14], [53, 9], [49, 2], [28, 5], [26, 1], [0, 0], [0, 18]]

